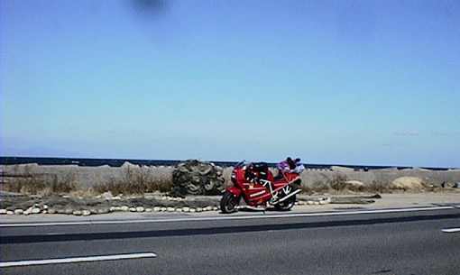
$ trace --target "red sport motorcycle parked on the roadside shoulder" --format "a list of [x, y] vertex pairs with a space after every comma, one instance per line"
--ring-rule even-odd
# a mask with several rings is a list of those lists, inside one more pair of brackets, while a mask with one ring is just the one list
[[235, 212], [243, 197], [248, 206], [274, 206], [277, 210], [290, 210], [296, 201], [296, 194], [301, 191], [301, 171], [281, 169], [279, 175], [273, 178], [266, 163], [241, 161], [232, 171], [234, 186], [226, 189], [220, 209], [223, 213]]

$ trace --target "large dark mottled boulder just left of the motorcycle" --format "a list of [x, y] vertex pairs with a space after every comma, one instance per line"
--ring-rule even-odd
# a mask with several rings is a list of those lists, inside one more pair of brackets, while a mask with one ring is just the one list
[[222, 167], [209, 161], [186, 160], [172, 170], [173, 193], [179, 196], [224, 193]]

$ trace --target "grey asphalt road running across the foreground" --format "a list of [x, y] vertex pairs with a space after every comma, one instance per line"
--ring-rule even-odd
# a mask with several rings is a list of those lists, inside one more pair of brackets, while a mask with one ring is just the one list
[[[0, 272], [460, 274], [460, 209], [454, 206], [325, 214], [145, 215], [66, 223], [12, 225], [2, 220]], [[145, 258], [87, 258], [101, 255]], [[18, 266], [50, 259], [78, 262]]]

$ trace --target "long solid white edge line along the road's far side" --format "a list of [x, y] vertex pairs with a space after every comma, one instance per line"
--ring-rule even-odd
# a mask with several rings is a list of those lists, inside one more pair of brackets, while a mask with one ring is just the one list
[[305, 216], [399, 213], [399, 212], [433, 211], [433, 210], [445, 210], [445, 209], [454, 209], [454, 206], [433, 206], [433, 207], [376, 209], [376, 210], [358, 210], [358, 211], [336, 211], [336, 212], [322, 212], [322, 213], [277, 214], [277, 215], [222, 215], [222, 216], [205, 216], [205, 217], [183, 217], [183, 218], [174, 218], [174, 219], [142, 219], [142, 220], [112, 220], [112, 221], [24, 223], [24, 224], [17, 223], [17, 224], [0, 224], [0, 227], [33, 227], [33, 226], [55, 226], [55, 225], [120, 225], [120, 224], [173, 223], [173, 222], [196, 222], [196, 221], [216, 221], [216, 220], [250, 220], [250, 219], [270, 219], [270, 218], [305, 217]]

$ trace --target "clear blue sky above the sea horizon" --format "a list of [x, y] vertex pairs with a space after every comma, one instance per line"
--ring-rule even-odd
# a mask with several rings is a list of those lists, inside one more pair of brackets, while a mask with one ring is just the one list
[[1, 155], [460, 167], [460, 1], [2, 0]]

